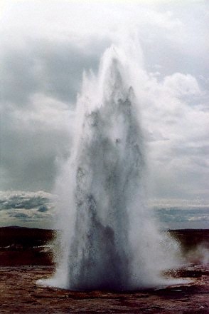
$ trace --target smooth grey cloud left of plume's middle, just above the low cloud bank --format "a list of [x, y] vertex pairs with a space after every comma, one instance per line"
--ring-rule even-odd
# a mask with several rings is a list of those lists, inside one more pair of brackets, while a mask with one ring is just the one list
[[65, 130], [5, 128], [1, 132], [1, 167], [7, 178], [4, 188], [50, 190], [57, 173], [56, 158], [68, 155], [69, 141]]

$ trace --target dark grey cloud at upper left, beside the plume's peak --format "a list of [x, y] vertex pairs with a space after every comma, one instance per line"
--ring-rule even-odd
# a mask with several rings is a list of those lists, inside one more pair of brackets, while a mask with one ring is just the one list
[[[1, 101], [28, 106], [38, 91], [69, 104], [75, 102], [82, 72], [96, 70], [100, 54], [69, 41], [26, 38], [23, 42], [19, 47], [1, 46]], [[97, 46], [102, 50], [104, 43], [99, 41]]]

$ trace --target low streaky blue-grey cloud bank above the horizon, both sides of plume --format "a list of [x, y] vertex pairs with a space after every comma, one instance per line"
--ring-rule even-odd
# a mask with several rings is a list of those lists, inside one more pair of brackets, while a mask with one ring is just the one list
[[[154, 216], [162, 229], [208, 228], [209, 204], [206, 201], [152, 199], [148, 206], [154, 208]], [[0, 226], [53, 228], [58, 208], [58, 200], [51, 193], [1, 192]]]

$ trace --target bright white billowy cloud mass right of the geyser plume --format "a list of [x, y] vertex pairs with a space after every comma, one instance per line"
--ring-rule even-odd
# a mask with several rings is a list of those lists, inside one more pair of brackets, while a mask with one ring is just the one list
[[[150, 76], [141, 102], [149, 148], [149, 186], [159, 198], [208, 199], [208, 112], [195, 77]], [[194, 103], [195, 98], [195, 103]], [[169, 173], [169, 174], [168, 174]]]

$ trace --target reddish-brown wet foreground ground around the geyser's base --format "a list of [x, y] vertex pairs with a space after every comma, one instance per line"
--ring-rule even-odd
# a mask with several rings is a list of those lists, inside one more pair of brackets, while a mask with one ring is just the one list
[[81, 293], [36, 284], [53, 271], [53, 266], [1, 267], [0, 313], [209, 313], [209, 265], [175, 273], [192, 280], [189, 284], [127, 293]]

